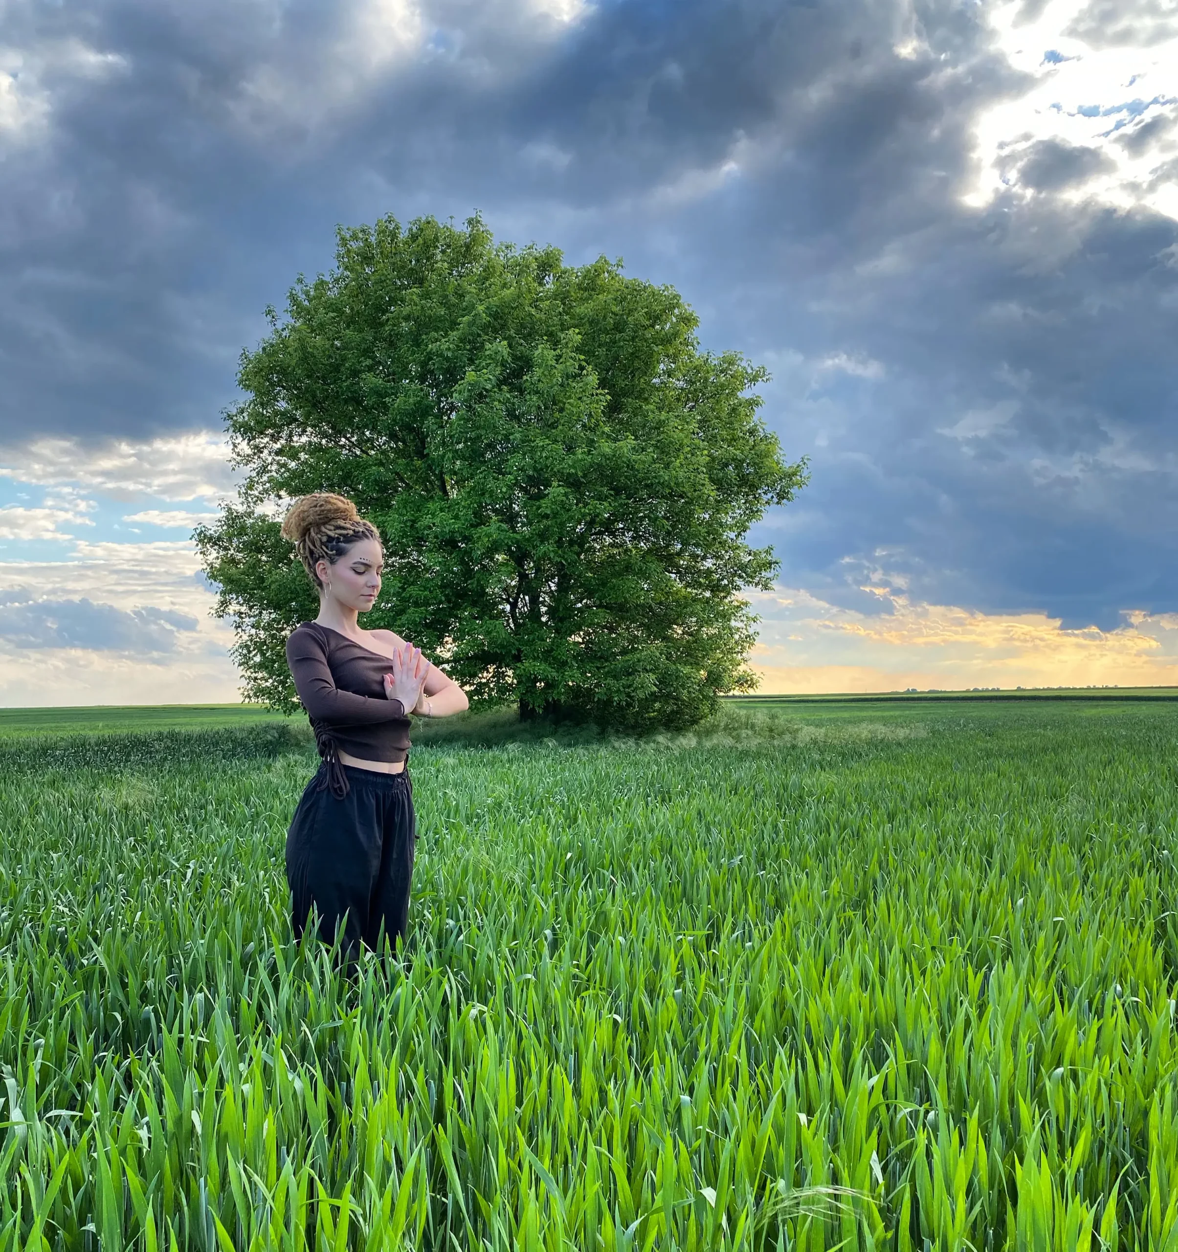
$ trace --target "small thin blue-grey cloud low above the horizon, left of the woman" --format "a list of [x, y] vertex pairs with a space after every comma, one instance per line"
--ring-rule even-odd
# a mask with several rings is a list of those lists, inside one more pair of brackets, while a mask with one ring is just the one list
[[197, 618], [168, 608], [116, 608], [91, 600], [40, 600], [29, 591], [0, 597], [0, 640], [18, 647], [79, 647], [158, 654], [175, 649], [177, 631]]

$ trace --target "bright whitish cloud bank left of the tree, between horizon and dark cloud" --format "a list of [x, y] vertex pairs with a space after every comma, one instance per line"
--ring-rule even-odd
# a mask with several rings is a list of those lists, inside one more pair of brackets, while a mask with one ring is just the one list
[[[43, 501], [0, 507], [0, 540], [15, 541], [15, 552], [40, 541], [49, 556], [0, 561], [0, 704], [239, 699], [233, 632], [209, 612], [213, 591], [192, 541], [115, 542], [109, 522], [95, 523], [110, 502], [224, 498], [232, 491], [224, 439], [199, 431], [138, 443], [39, 439], [8, 448], [3, 461], [0, 473], [41, 488]], [[190, 530], [215, 516], [143, 508], [123, 521]], [[79, 526], [91, 537], [79, 537]]]

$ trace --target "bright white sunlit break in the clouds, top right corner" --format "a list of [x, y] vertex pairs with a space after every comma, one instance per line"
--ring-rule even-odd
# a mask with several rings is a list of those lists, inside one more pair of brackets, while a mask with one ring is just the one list
[[1132, 9], [1114, 4], [1048, 0], [1020, 21], [1025, 9], [991, 11], [1003, 53], [1037, 81], [979, 119], [968, 203], [1013, 189], [1178, 218], [1178, 15], [1148, 26], [1142, 15], [1134, 29]]

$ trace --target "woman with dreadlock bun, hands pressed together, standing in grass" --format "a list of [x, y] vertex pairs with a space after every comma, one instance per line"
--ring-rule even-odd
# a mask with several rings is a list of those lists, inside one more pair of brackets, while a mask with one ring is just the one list
[[294, 689], [322, 764], [287, 835], [292, 921], [302, 936], [312, 904], [328, 943], [343, 923], [348, 962], [383, 933], [404, 942], [417, 829], [409, 781], [409, 714], [448, 717], [462, 689], [421, 649], [388, 630], [361, 630], [377, 602], [383, 550], [351, 500], [297, 500], [282, 527], [319, 592], [319, 616], [287, 640]]

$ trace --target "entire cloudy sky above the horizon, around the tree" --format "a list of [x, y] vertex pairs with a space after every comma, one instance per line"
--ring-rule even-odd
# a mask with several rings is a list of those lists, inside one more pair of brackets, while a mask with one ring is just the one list
[[238, 697], [239, 353], [474, 210], [769, 368], [761, 690], [1178, 684], [1178, 0], [0, 0], [0, 704]]

